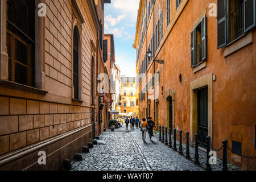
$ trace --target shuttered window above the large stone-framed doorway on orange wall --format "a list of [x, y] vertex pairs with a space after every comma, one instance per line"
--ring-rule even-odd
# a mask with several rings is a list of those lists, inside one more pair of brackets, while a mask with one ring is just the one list
[[207, 18], [203, 17], [197, 27], [191, 32], [191, 67], [207, 59]]

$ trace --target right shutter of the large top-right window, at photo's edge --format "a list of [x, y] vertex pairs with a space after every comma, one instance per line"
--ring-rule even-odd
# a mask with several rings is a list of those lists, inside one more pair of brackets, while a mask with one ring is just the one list
[[244, 20], [245, 20], [245, 32], [255, 27], [255, 0], [245, 0], [244, 7]]

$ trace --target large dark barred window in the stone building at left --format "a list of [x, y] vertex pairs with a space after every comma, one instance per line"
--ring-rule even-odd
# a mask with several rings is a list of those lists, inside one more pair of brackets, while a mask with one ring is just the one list
[[35, 87], [35, 2], [7, 0], [9, 80]]

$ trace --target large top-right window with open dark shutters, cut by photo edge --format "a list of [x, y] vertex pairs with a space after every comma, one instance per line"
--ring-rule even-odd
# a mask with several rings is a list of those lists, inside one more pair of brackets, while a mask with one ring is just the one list
[[256, 0], [217, 0], [217, 46], [224, 47], [255, 27]]

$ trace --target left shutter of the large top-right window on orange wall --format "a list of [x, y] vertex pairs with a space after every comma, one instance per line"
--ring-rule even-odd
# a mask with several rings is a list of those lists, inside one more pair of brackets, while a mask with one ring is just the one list
[[226, 0], [217, 0], [217, 44], [226, 46]]

